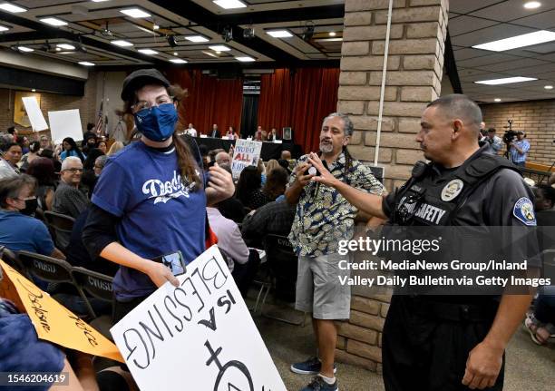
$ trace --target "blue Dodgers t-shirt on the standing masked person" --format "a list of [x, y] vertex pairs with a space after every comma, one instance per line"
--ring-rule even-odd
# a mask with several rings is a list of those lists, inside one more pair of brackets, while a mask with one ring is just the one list
[[[145, 259], [180, 250], [189, 263], [205, 247], [206, 195], [193, 186], [181, 182], [175, 150], [132, 142], [107, 161], [92, 201], [122, 218], [116, 232], [126, 249]], [[156, 289], [146, 274], [126, 267], [118, 270], [113, 288], [122, 301]]]

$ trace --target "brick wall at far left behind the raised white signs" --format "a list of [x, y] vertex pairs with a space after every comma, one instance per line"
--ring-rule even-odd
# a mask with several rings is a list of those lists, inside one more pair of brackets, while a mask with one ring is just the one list
[[[59, 93], [41, 93], [41, 111], [48, 122], [48, 112], [58, 110], [79, 109], [83, 131], [87, 122], [96, 122], [96, 73], [89, 73], [85, 83], [83, 96], [63, 95]], [[31, 127], [24, 128], [14, 123], [15, 90], [0, 88], [0, 132], [5, 132], [10, 126], [15, 126], [19, 131], [31, 131]]]

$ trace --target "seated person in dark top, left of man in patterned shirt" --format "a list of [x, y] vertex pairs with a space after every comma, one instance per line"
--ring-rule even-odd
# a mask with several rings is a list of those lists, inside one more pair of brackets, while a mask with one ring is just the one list
[[286, 236], [295, 219], [295, 205], [287, 202], [269, 202], [251, 212], [243, 220], [241, 234], [250, 247], [262, 248], [268, 234]]

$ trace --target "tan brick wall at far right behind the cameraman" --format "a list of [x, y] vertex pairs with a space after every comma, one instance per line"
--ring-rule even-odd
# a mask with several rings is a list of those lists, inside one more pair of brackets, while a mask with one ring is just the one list
[[527, 161], [551, 165], [555, 160], [555, 99], [532, 102], [482, 104], [486, 127], [502, 136], [511, 119], [512, 129], [526, 132], [530, 142]]

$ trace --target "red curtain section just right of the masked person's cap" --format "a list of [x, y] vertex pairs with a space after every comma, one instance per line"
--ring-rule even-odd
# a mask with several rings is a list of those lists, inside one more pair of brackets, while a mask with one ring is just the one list
[[219, 80], [214, 76], [202, 74], [201, 70], [168, 71], [170, 83], [177, 83], [188, 90], [184, 104], [180, 105], [180, 124], [186, 128], [192, 123], [197, 132], [204, 134], [218, 124], [221, 134], [229, 126], [240, 129], [243, 106], [242, 79]]

